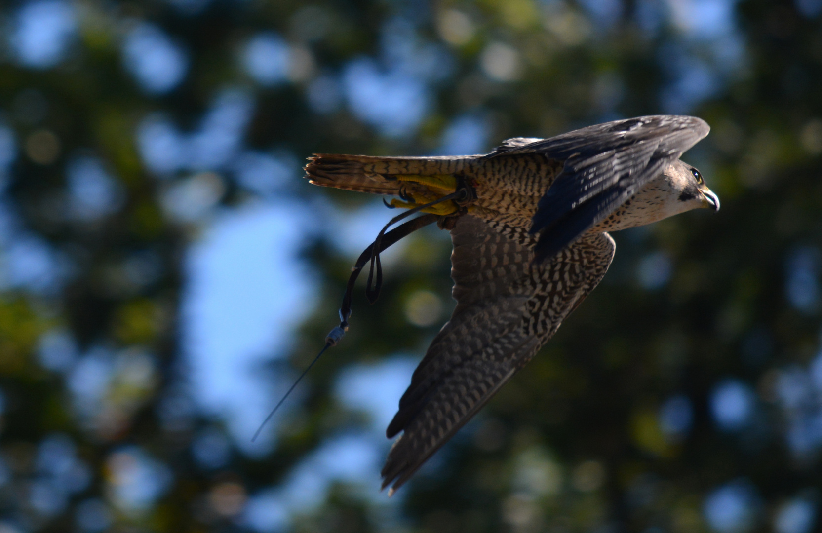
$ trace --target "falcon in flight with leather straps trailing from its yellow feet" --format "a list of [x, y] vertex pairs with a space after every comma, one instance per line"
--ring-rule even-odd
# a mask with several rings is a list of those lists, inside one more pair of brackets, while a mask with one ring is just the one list
[[[616, 249], [607, 232], [690, 209], [719, 209], [700, 171], [679, 159], [709, 129], [700, 118], [657, 115], [550, 139], [509, 139], [485, 155], [310, 159], [305, 170], [315, 185], [394, 195], [390, 207], [426, 213], [404, 224], [399, 237], [436, 221], [454, 244], [456, 308], [386, 430], [389, 439], [402, 432], [381, 472], [389, 494], [530, 361], [597, 286]], [[386, 234], [380, 243], [380, 237], [355, 269], [369, 255], [372, 268], [375, 256], [379, 266], [379, 251], [399, 238]], [[380, 278], [378, 270], [377, 283]], [[354, 279], [356, 273], [340, 311], [344, 327]]]

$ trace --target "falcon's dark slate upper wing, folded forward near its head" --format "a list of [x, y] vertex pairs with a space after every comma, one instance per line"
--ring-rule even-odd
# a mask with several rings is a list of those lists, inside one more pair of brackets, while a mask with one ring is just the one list
[[697, 117], [637, 117], [527, 145], [506, 143], [486, 157], [536, 152], [565, 161], [533, 216], [531, 232], [540, 232], [536, 257], [544, 260], [607, 218], [709, 131]]

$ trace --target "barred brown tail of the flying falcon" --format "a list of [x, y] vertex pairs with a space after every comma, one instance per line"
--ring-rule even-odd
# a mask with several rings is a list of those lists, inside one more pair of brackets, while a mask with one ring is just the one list
[[366, 155], [316, 154], [305, 167], [319, 186], [377, 195], [399, 195], [398, 175], [434, 176], [463, 170], [476, 156], [380, 158]]

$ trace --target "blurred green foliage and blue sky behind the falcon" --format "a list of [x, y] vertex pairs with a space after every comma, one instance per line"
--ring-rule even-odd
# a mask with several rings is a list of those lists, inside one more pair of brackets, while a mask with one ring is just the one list
[[[0, 532], [810, 533], [822, 448], [822, 1], [0, 4]], [[723, 202], [602, 285], [391, 499], [383, 431], [446, 232], [261, 438], [392, 214], [312, 153], [475, 154], [650, 113]]]

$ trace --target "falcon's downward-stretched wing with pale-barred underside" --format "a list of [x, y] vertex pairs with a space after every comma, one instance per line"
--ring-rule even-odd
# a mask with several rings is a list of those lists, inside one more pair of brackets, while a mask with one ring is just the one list
[[388, 426], [403, 431], [382, 469], [398, 489], [551, 338], [603, 278], [614, 253], [607, 233], [586, 234], [544, 264], [535, 239], [511, 239], [465, 215], [451, 231], [457, 301], [428, 347]]

